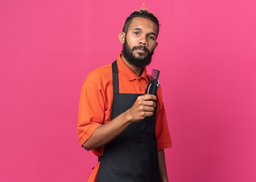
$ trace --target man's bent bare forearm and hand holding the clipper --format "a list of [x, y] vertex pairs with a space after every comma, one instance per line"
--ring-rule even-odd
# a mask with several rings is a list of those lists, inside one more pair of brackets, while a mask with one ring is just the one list
[[100, 125], [94, 133], [83, 143], [85, 150], [99, 148], [108, 144], [123, 132], [132, 122], [138, 122], [146, 116], [152, 116], [156, 103], [150, 100], [156, 100], [155, 95], [146, 94], [138, 96], [135, 103], [126, 112], [120, 114], [115, 119]]

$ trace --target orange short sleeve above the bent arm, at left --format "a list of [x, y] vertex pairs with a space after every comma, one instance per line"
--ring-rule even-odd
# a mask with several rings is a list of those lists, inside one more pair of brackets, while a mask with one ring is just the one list
[[81, 145], [102, 125], [104, 100], [97, 83], [86, 79], [79, 99], [78, 136]]

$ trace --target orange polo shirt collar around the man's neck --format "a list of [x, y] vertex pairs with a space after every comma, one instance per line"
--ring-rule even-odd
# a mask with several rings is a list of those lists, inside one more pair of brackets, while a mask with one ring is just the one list
[[[121, 54], [117, 56], [117, 66], [118, 70], [126, 77], [128, 81], [136, 79], [138, 76], [126, 65], [124, 60], [121, 58]], [[147, 78], [147, 70], [146, 67], [143, 68], [142, 74], [140, 77], [143, 77], [146, 81]]]

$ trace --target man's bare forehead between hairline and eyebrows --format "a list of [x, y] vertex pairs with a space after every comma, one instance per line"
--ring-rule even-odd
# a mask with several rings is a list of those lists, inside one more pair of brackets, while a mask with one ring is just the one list
[[148, 18], [142, 18], [142, 17], [135, 17], [132, 19], [132, 23], [130, 24], [128, 31], [140, 28], [142, 31], [145, 32], [154, 32], [156, 35], [158, 33], [158, 27], [157, 24], [155, 24], [153, 21], [149, 20]]

